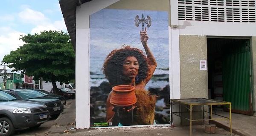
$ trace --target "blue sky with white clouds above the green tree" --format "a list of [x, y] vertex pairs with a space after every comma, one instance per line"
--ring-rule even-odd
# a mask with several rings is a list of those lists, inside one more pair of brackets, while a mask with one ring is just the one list
[[67, 32], [58, 0], [1, 0], [0, 61], [23, 45], [20, 35], [44, 30]]

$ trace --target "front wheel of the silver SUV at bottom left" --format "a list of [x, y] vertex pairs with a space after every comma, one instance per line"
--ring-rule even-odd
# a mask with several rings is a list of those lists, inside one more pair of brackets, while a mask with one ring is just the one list
[[12, 121], [6, 117], [0, 118], [0, 135], [11, 136], [15, 131]]

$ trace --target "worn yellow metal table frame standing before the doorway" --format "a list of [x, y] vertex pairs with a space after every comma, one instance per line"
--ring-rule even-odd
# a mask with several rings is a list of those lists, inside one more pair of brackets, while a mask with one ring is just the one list
[[[184, 102], [185, 100], [185, 102]], [[192, 100], [191, 102], [189, 102], [189, 100]], [[198, 101], [197, 101], [198, 100]], [[200, 100], [206, 100], [206, 102], [202, 103]], [[209, 101], [209, 102], [207, 102]], [[185, 118], [185, 117], [181, 117], [181, 115], [177, 115], [176, 113], [181, 113], [181, 112], [172, 112], [172, 103], [179, 103], [179, 104], [184, 104], [184, 105], [188, 105], [189, 108], [189, 112], [190, 112], [190, 119]], [[207, 112], [204, 111], [204, 105], [208, 105], [210, 106], [210, 112], [208, 112], [210, 114], [210, 118], [211, 119], [204, 119], [204, 114], [203, 114], [203, 119], [192, 119], [192, 108], [195, 105], [202, 105], [203, 106], [203, 113]], [[223, 118], [212, 118], [212, 105], [229, 105], [229, 114], [230, 117], [224, 117], [218, 114], [218, 116], [221, 116]], [[206, 121], [206, 120], [222, 120], [222, 119], [229, 119], [230, 120], [230, 136], [232, 136], [232, 120], [231, 120], [231, 103], [230, 102], [225, 102], [225, 101], [220, 101], [220, 100], [212, 100], [212, 99], [206, 99], [206, 98], [190, 98], [190, 99], [171, 99], [171, 116], [172, 114], [179, 116], [180, 118], [185, 118], [187, 120], [189, 120], [190, 122], [190, 136], [192, 136], [192, 121]], [[171, 117], [172, 118], [172, 117]], [[173, 120], [172, 120], [172, 126], [173, 126]]]

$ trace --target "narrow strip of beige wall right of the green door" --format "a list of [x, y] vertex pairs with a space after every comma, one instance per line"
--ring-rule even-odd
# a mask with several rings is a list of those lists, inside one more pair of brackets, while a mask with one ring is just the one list
[[251, 55], [252, 55], [252, 66], [253, 66], [253, 111], [256, 111], [256, 37], [251, 39]]

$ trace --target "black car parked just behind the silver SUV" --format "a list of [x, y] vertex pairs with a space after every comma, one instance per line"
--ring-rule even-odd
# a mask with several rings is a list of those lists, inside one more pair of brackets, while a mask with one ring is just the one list
[[5, 90], [4, 92], [11, 94], [18, 100], [27, 100], [45, 104], [47, 106], [47, 110], [49, 111], [49, 115], [52, 118], [57, 118], [64, 108], [61, 100], [45, 96], [44, 94], [41, 94], [40, 92], [32, 89], [10, 89]]

